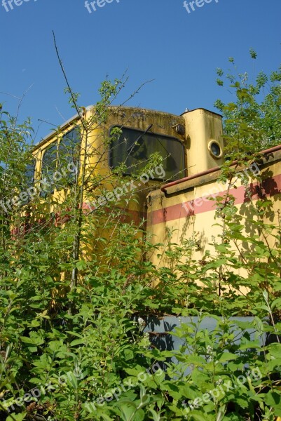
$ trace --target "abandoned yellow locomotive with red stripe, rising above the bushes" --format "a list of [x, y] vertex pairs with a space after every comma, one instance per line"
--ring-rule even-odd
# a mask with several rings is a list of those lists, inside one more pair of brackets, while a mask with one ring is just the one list
[[[95, 115], [95, 106], [83, 109], [83, 113], [85, 121], [90, 120]], [[77, 131], [77, 127], [81, 128], [78, 115], [34, 147], [34, 167], [29, 168], [29, 175], [35, 183], [29, 193], [39, 191], [43, 201], [47, 193], [51, 194], [50, 212], [52, 203], [62, 201], [66, 194], [57, 180], [61, 173], [71, 183], [79, 176], [84, 163], [83, 180], [88, 180], [90, 175], [101, 180], [100, 190], [95, 189], [90, 199], [89, 196], [83, 199], [84, 208], [92, 210], [106, 206], [109, 201], [122, 201], [135, 222], [146, 220], [146, 230], [155, 243], [167, 242], [167, 229], [173, 232], [170, 241], [179, 245], [198, 232], [195, 258], [202, 259], [211, 237], [220, 233], [220, 228], [213, 226], [212, 199], [229, 189], [217, 182], [225, 159], [221, 116], [206, 109], [176, 116], [149, 109], [110, 107], [106, 121], [93, 124], [87, 137], [83, 130]], [[112, 133], [117, 134], [109, 144], [105, 140]], [[155, 153], [161, 163], [148, 171], [146, 164]], [[274, 222], [280, 208], [281, 146], [263, 151], [261, 155], [263, 163], [252, 162], [248, 167], [235, 170], [237, 178], [231, 194], [247, 218], [247, 185], [251, 187], [251, 200], [259, 199], [262, 188], [266, 196], [274, 197], [275, 216], [270, 217], [270, 222]], [[120, 166], [123, 166], [123, 182], [114, 189], [111, 175]], [[126, 182], [136, 168], [141, 175], [135, 182]], [[146, 173], [142, 174], [142, 168], [146, 168]], [[46, 175], [52, 175], [55, 180], [47, 193], [36, 187], [42, 185]], [[262, 182], [256, 180], [257, 175]], [[138, 200], [126, 201], [126, 196], [130, 198], [132, 194], [136, 194]], [[165, 265], [165, 260], [160, 262], [156, 253], [151, 260], [156, 265]]]

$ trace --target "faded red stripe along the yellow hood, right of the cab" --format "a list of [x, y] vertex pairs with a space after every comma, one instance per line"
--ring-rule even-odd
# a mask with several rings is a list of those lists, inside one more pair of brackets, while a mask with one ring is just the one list
[[[229, 190], [228, 193], [235, 197], [235, 205], [246, 203], [250, 199], [257, 200], [268, 196], [275, 196], [275, 194], [280, 194], [281, 174], [275, 175], [273, 178], [268, 178], [261, 183], [251, 183], [247, 187], [249, 189], [248, 192], [246, 192], [244, 186]], [[224, 196], [226, 192], [227, 190], [224, 190], [224, 192], [213, 194], [214, 196]], [[207, 194], [207, 196], [202, 196], [191, 201], [177, 203], [177, 205], [168, 206], [167, 208], [153, 210], [151, 215], [151, 225], [180, 218], [187, 218], [192, 215], [198, 215], [199, 213], [214, 210], [216, 202], [208, 199], [210, 198], [210, 195], [211, 194]], [[199, 202], [200, 199], [201, 202]], [[196, 201], [198, 201], [198, 203], [196, 203]]]

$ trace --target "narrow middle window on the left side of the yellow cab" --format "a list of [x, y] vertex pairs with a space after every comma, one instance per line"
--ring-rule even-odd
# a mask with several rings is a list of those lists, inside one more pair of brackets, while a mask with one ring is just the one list
[[[54, 174], [57, 169], [57, 143], [50, 145], [43, 154], [42, 159], [42, 180], [41, 196], [46, 197], [48, 193], [53, 193], [55, 188]], [[46, 182], [44, 180], [46, 179]]]

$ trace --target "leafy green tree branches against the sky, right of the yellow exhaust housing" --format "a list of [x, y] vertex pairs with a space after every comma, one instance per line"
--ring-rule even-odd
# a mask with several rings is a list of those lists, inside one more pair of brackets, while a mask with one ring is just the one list
[[[256, 53], [250, 50], [252, 60]], [[281, 68], [269, 75], [259, 72], [254, 79], [247, 72], [239, 73], [233, 58], [229, 58], [233, 70], [225, 75], [217, 69], [217, 84], [231, 83], [229, 91], [233, 101], [225, 104], [217, 100], [214, 105], [224, 116], [226, 154], [231, 160], [241, 153], [260, 152], [275, 145], [281, 139]], [[252, 79], [252, 80], [251, 80]], [[233, 142], [235, 151], [233, 154]]]

